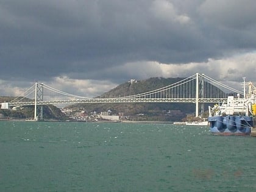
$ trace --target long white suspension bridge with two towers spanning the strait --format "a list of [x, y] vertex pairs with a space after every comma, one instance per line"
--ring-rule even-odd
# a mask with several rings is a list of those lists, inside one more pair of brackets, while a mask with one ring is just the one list
[[156, 90], [116, 98], [87, 98], [57, 90], [46, 84], [35, 83], [32, 87], [24, 91], [22, 96], [18, 96], [10, 102], [2, 103], [1, 108], [34, 105], [34, 118], [37, 119], [37, 113], [41, 108], [40, 118], [43, 119], [43, 105], [97, 104], [108, 102], [183, 102], [194, 103], [196, 105], [195, 114], [199, 116], [199, 105], [202, 112], [205, 103], [226, 101], [227, 96], [230, 94], [244, 96], [245, 93], [228, 87], [205, 74], [196, 73], [179, 82], [157, 88]]

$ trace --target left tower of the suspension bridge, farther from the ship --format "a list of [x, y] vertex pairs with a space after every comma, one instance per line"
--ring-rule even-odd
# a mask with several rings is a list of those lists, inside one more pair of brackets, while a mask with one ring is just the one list
[[34, 119], [37, 121], [38, 116], [37, 112], [40, 110], [40, 120], [43, 120], [43, 105], [37, 105], [38, 101], [43, 101], [43, 84], [35, 83], [35, 113], [34, 113]]

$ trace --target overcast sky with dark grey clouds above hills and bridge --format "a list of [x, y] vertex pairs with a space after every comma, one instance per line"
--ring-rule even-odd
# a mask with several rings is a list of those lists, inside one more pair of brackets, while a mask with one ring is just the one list
[[98, 96], [129, 79], [256, 83], [255, 0], [0, 0], [0, 96]]

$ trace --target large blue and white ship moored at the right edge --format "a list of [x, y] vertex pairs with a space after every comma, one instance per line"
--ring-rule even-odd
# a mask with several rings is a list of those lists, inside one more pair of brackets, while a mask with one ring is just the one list
[[244, 97], [228, 96], [227, 101], [208, 107], [210, 131], [217, 135], [250, 135], [255, 126], [256, 88], [244, 82]]

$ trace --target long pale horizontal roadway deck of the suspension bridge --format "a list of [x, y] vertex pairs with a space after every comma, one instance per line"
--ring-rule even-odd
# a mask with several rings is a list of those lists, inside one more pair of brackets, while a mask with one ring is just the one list
[[[226, 101], [227, 98], [199, 98], [197, 102], [205, 103], [219, 103]], [[97, 103], [127, 103], [127, 102], [183, 102], [195, 103], [196, 98], [90, 98], [90, 99], [73, 99], [73, 100], [52, 100], [52, 101], [37, 101], [37, 105], [54, 105], [54, 104], [97, 104]], [[27, 102], [10, 102], [9, 106], [28, 106], [35, 105], [35, 101]]]

